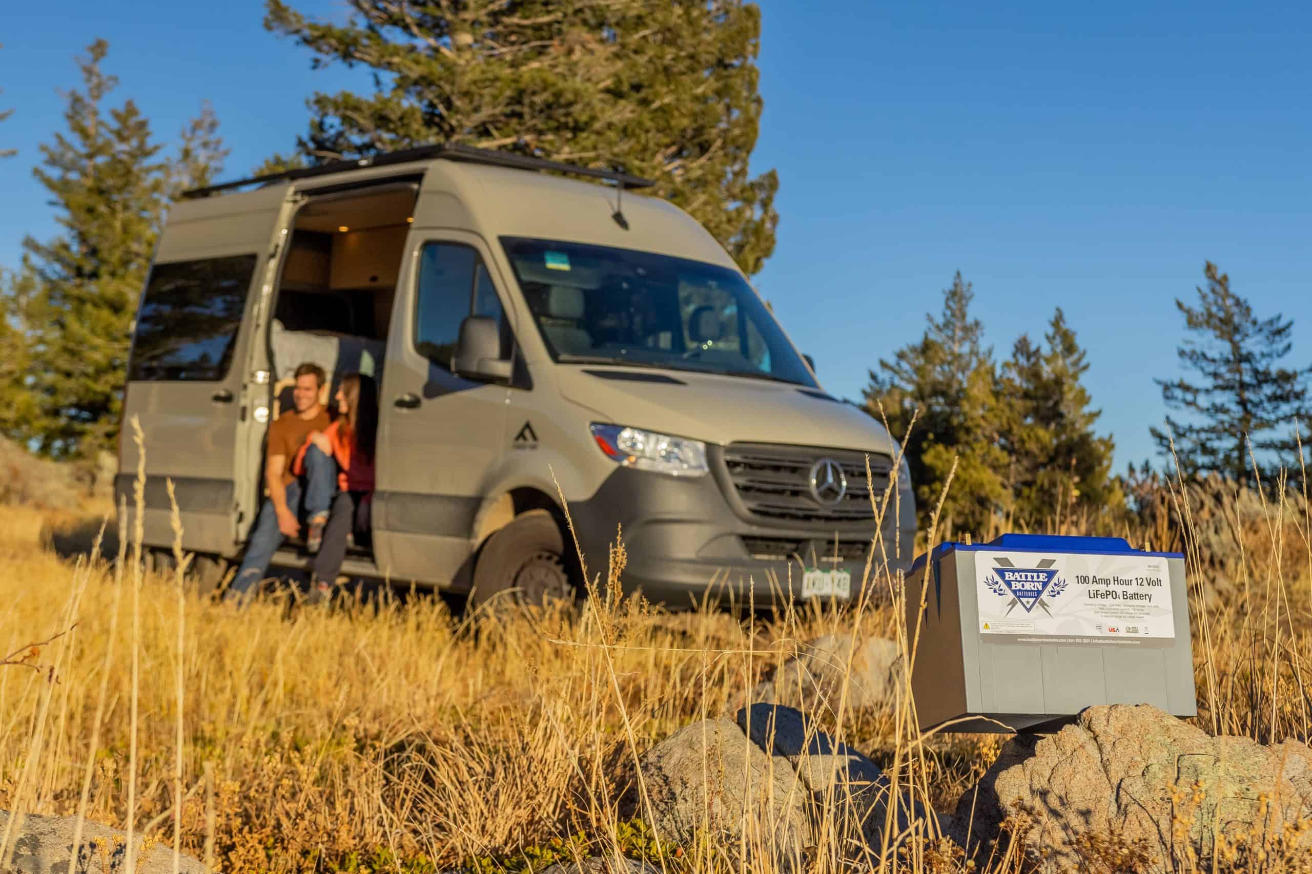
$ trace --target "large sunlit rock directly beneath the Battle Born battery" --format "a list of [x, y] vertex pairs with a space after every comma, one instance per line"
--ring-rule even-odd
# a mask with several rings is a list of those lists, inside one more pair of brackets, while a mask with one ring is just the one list
[[[1056, 735], [1009, 741], [958, 802], [951, 833], [993, 840], [1017, 810], [1031, 815], [1023, 837], [1044, 871], [1084, 870], [1080, 840], [1107, 836], [1141, 841], [1153, 870], [1166, 870], [1185, 844], [1207, 858], [1216, 832], [1281, 835], [1312, 818], [1312, 749], [1211, 738], [1147, 705], [1089, 707]], [[1312, 832], [1294, 840], [1312, 849]]]

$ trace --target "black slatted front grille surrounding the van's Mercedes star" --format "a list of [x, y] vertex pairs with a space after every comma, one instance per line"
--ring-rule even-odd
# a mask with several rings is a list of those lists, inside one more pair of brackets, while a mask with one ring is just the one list
[[[824, 459], [838, 463], [846, 489], [837, 500], [821, 503], [811, 489], [811, 472]], [[729, 444], [724, 447], [729, 480], [753, 516], [778, 522], [866, 522], [875, 513], [892, 471], [888, 455], [870, 454], [871, 482], [866, 482], [866, 454], [850, 449], [816, 449], [773, 444]]]

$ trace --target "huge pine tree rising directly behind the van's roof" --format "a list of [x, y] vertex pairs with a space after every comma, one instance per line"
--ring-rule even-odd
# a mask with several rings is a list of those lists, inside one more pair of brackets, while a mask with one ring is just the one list
[[[454, 142], [618, 167], [657, 182], [748, 273], [774, 249], [778, 177], [748, 172], [760, 10], [743, 0], [349, 0], [346, 25], [268, 0], [265, 26], [377, 71], [310, 101], [303, 160]], [[289, 165], [276, 156], [264, 169]]]

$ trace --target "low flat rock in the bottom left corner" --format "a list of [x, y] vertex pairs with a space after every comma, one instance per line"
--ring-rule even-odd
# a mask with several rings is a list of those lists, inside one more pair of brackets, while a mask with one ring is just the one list
[[[0, 811], [0, 836], [9, 827], [10, 814]], [[127, 833], [117, 828], [87, 820], [83, 823], [81, 846], [77, 865], [72, 865], [73, 829], [76, 816], [35, 816], [22, 818], [14, 836], [10, 839], [9, 866], [0, 862], [3, 874], [119, 874], [127, 870]], [[138, 841], [142, 839], [138, 836]], [[138, 874], [171, 874], [173, 870], [173, 848], [151, 841], [154, 846], [142, 852], [138, 844]], [[205, 874], [205, 866], [190, 856], [182, 854], [178, 869], [182, 874]]]

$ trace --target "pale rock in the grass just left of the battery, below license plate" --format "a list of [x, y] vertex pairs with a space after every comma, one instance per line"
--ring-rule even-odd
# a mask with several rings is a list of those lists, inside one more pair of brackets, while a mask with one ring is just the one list
[[[844, 680], [848, 680], [848, 707], [874, 707], [896, 701], [901, 682], [897, 644], [883, 638], [867, 638], [851, 652], [851, 636], [827, 634], [799, 647], [795, 657], [781, 664], [761, 681], [744, 703], [777, 703], [806, 713], [828, 709], [837, 714]], [[851, 672], [848, 656], [851, 654]]]

